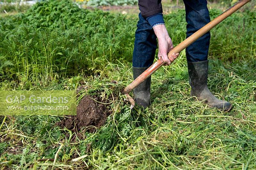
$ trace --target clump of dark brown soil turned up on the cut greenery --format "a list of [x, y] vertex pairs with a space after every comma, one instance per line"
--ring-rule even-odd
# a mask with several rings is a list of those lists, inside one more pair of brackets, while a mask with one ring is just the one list
[[[84, 96], [76, 108], [76, 116], [64, 118], [60, 122], [57, 122], [56, 125], [66, 127], [72, 131], [79, 131], [82, 127], [86, 126], [102, 126], [106, 122], [110, 112], [106, 105], [96, 101], [101, 102], [97, 96]], [[95, 128], [90, 128], [88, 131], [93, 132]]]

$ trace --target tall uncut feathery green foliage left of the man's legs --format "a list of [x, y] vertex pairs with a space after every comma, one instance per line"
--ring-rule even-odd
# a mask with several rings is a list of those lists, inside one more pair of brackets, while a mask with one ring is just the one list
[[[26, 76], [30, 88], [34, 78], [49, 82], [98, 72], [106, 59], [131, 60], [135, 23], [70, 1], [43, 1], [25, 14], [0, 20], [0, 53], [13, 61], [16, 73]], [[6, 74], [20, 81], [16, 73]]]

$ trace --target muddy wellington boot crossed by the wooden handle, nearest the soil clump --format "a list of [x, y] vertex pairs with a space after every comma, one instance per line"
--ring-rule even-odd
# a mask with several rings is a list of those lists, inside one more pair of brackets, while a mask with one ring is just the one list
[[[133, 80], [135, 80], [140, 74], [142, 74], [147, 68], [145, 67], [132, 67], [133, 68]], [[139, 84], [135, 89], [133, 89], [133, 95], [135, 102], [141, 105], [144, 109], [150, 105], [150, 83], [151, 76], [145, 81]]]

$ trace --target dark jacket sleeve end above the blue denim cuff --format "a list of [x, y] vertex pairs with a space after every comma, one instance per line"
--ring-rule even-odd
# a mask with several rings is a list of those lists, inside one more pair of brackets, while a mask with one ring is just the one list
[[157, 13], [163, 13], [161, 0], [139, 0], [142, 17], [147, 18]]

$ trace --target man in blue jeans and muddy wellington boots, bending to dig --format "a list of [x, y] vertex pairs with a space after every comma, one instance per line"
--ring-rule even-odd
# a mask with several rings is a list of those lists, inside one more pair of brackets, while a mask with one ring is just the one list
[[[183, 0], [186, 10], [187, 37], [210, 22], [206, 0]], [[136, 79], [149, 66], [153, 64], [158, 39], [158, 58], [162, 58], [165, 65], [171, 64], [179, 54], [172, 54], [168, 59], [167, 53], [173, 48], [172, 40], [164, 25], [161, 0], [139, 0], [139, 21], [135, 32], [133, 50], [133, 79]], [[210, 107], [227, 111], [231, 103], [219, 100], [207, 87], [208, 76], [208, 50], [210, 45], [210, 32], [197, 39], [186, 48], [188, 62], [189, 84], [191, 96], [205, 101]], [[133, 90], [135, 102], [144, 108], [150, 105], [151, 77], [143, 81]]]

